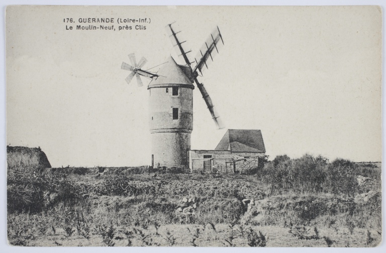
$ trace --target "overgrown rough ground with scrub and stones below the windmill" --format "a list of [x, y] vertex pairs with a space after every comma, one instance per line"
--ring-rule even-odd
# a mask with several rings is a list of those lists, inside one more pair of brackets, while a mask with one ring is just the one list
[[[13, 163], [14, 164], [14, 163]], [[254, 175], [8, 167], [28, 246], [376, 246], [380, 163], [278, 156]]]

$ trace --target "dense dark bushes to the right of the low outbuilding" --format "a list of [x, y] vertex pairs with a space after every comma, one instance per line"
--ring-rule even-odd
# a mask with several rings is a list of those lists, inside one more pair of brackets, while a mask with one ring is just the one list
[[287, 155], [279, 155], [268, 162], [259, 175], [263, 181], [271, 184], [273, 195], [325, 192], [353, 197], [371, 189], [358, 187], [357, 176], [380, 179], [380, 169], [374, 168], [373, 164], [357, 165], [341, 158], [330, 163], [323, 156], [306, 154], [291, 159]]

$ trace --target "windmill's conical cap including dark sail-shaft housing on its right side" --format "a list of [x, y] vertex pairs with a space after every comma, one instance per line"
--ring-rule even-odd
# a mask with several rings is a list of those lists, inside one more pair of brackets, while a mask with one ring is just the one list
[[195, 88], [195, 86], [192, 84], [192, 81], [190, 81], [189, 77], [187, 76], [187, 74], [189, 75], [187, 66], [178, 65], [171, 56], [169, 56], [166, 61], [167, 62], [158, 71], [157, 79], [153, 79], [150, 82], [148, 89], [170, 86], [182, 86], [190, 89]]

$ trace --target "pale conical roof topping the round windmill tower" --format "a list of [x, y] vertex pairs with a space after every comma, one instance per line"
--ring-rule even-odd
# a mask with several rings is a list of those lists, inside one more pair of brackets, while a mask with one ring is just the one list
[[[160, 84], [189, 84], [192, 82], [186, 76], [184, 70], [179, 66], [174, 59], [169, 56], [167, 62], [157, 72], [157, 79], [152, 80], [149, 85], [160, 85]], [[192, 85], [193, 86], [193, 85]]]

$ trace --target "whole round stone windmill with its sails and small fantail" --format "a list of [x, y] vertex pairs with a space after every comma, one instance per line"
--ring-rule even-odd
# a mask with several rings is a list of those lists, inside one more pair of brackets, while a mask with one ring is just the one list
[[[204, 69], [208, 68], [208, 59], [213, 60], [214, 52], [218, 52], [223, 39], [220, 30], [216, 28], [200, 50], [198, 57], [190, 61], [177, 38], [179, 32], [174, 32], [171, 24], [167, 26], [169, 38], [184, 61], [179, 65], [170, 56], [157, 73], [142, 70], [147, 62], [142, 57], [137, 64], [134, 54], [129, 55], [131, 64], [122, 63], [122, 69], [132, 71], [126, 78], [130, 83], [134, 76], [138, 86], [142, 86], [140, 76], [152, 79], [149, 90], [149, 125], [152, 141], [152, 165], [160, 164], [166, 167], [188, 166], [187, 151], [190, 149], [190, 134], [193, 130], [193, 90], [196, 83], [208, 109], [216, 123], [222, 128], [219, 116], [214, 110], [212, 100], [204, 85], [198, 81]], [[221, 43], [219, 43], [221, 42]], [[193, 67], [194, 65], [194, 67]]]

